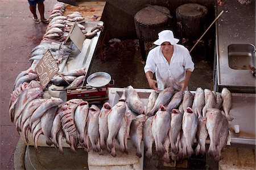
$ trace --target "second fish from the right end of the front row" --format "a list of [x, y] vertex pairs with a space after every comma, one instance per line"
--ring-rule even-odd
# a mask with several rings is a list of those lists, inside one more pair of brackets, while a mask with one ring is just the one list
[[199, 153], [204, 155], [205, 154], [205, 140], [207, 139], [208, 132], [206, 128], [206, 117], [200, 117], [198, 119], [198, 125], [197, 125], [197, 132], [196, 132], [196, 138], [197, 138], [197, 147], [195, 149], [195, 154], [198, 155]]

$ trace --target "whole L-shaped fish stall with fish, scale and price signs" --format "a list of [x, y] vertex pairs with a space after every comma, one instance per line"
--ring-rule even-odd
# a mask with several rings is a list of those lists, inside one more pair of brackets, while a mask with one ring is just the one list
[[82, 148], [89, 169], [143, 169], [154, 156], [175, 167], [199, 154], [220, 161], [233, 144], [255, 147], [255, 94], [174, 85], [156, 93], [114, 88], [105, 72], [88, 75], [104, 23], [78, 9], [56, 3], [31, 67], [15, 80], [9, 114], [26, 145]]

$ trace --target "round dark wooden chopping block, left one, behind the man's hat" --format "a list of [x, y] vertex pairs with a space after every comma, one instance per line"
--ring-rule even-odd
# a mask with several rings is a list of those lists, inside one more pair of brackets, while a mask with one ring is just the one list
[[[154, 6], [156, 9], [170, 15], [170, 10], [163, 6]], [[142, 60], [146, 60], [144, 41], [158, 39], [158, 33], [168, 27], [168, 17], [152, 7], [145, 7], [134, 15], [136, 33], [139, 39]]]

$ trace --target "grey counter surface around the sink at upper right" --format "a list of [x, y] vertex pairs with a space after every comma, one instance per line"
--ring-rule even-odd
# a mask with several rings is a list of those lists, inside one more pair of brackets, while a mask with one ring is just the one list
[[[229, 67], [228, 45], [253, 44], [255, 46], [255, 1], [241, 5], [227, 0], [217, 6], [217, 14], [224, 14], [216, 22], [217, 89], [239, 89], [239, 93], [255, 93], [255, 77], [250, 70]], [[234, 92], [234, 90], [233, 90]]]

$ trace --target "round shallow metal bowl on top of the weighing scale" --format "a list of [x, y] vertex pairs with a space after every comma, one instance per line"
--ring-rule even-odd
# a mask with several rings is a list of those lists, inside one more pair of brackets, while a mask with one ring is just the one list
[[86, 82], [93, 88], [102, 88], [109, 84], [111, 81], [111, 76], [109, 73], [106, 72], [96, 72], [90, 74], [87, 78]]

